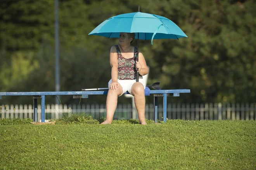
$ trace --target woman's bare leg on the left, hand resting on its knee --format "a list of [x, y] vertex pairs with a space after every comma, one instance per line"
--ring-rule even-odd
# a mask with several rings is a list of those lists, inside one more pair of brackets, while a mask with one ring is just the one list
[[102, 122], [101, 124], [112, 123], [116, 106], [117, 106], [118, 96], [121, 95], [122, 93], [123, 93], [123, 88], [120, 84], [117, 90], [109, 89], [109, 92], [107, 92], [107, 101], [106, 101], [107, 118], [106, 118], [106, 121]]

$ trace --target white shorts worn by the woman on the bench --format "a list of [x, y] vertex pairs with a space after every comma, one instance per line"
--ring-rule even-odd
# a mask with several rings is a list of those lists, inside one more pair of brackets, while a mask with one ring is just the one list
[[[109, 80], [108, 87], [110, 86], [111, 82], [112, 82], [112, 79]], [[145, 83], [144, 79], [139, 78], [139, 82], [143, 84], [144, 89], [145, 89], [146, 83]], [[128, 91], [131, 94], [131, 86], [133, 85], [133, 83], [136, 83], [136, 80], [119, 80], [118, 79], [118, 83], [120, 83], [120, 85], [123, 87], [123, 93]], [[121, 95], [119, 95], [119, 96], [121, 96]]]

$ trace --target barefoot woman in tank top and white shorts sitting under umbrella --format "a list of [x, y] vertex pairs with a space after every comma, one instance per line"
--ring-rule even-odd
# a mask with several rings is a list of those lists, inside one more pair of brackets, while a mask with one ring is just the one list
[[[128, 91], [134, 96], [135, 106], [138, 112], [140, 124], [145, 121], [145, 92], [146, 84], [142, 76], [149, 70], [142, 53], [131, 46], [135, 39], [134, 33], [121, 32], [119, 45], [112, 46], [110, 51], [111, 80], [108, 83], [107, 93], [107, 118], [102, 124], [111, 124], [116, 110], [118, 96]], [[138, 57], [139, 55], [139, 57]], [[138, 58], [138, 61], [137, 61]], [[137, 70], [139, 71], [139, 82], [136, 82]]]

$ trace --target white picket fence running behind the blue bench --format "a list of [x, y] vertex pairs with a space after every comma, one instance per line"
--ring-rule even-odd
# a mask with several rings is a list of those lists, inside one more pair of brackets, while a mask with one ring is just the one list
[[[41, 105], [38, 105], [38, 121], [41, 119]], [[106, 116], [106, 105], [87, 104], [87, 105], [46, 105], [46, 119], [55, 119], [62, 117], [63, 113], [86, 113], [93, 117]], [[1, 118], [33, 118], [32, 105], [2, 105], [0, 109]], [[147, 119], [153, 119], [154, 105], [146, 104], [145, 116]], [[163, 105], [158, 104], [158, 119], [162, 120]], [[251, 104], [168, 104], [168, 119], [183, 120], [256, 120], [256, 103]], [[131, 119], [131, 104], [118, 104], [114, 119]]]

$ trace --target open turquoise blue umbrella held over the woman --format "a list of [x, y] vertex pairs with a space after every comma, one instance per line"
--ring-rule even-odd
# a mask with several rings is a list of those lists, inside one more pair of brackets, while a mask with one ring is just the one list
[[[133, 12], [111, 17], [89, 35], [119, 38], [120, 32], [135, 33], [135, 39], [180, 39], [187, 35], [170, 19], [155, 14]], [[138, 72], [137, 72], [138, 81]]]

